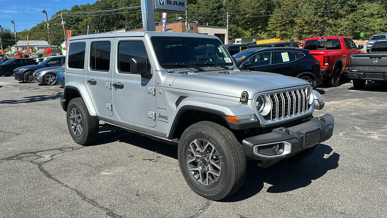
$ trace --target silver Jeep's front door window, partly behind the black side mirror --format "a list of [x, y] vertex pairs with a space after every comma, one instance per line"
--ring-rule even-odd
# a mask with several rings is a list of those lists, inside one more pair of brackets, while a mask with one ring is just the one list
[[123, 41], [118, 43], [118, 71], [130, 73], [130, 58], [144, 57], [148, 59], [144, 42]]

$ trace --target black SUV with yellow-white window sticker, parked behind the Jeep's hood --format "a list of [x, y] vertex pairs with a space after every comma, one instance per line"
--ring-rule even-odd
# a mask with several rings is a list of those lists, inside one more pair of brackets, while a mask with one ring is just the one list
[[263, 71], [306, 80], [315, 89], [322, 83], [320, 62], [302, 48], [246, 49], [235, 55], [239, 69]]

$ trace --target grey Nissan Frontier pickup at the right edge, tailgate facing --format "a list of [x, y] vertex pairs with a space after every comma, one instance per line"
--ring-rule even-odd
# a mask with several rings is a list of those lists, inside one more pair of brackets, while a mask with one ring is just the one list
[[355, 88], [364, 88], [367, 80], [387, 81], [387, 40], [374, 42], [368, 54], [349, 55], [346, 75]]

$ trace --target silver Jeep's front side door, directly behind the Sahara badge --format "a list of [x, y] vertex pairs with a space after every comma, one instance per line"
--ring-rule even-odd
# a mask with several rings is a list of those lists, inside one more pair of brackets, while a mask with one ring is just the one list
[[[130, 59], [143, 57], [148, 59], [148, 70], [152, 72], [144, 38], [116, 38], [115, 69], [113, 72], [112, 93], [113, 106], [120, 120], [137, 125], [154, 127], [156, 111], [156, 75], [145, 78], [140, 74], [130, 73]], [[148, 73], [151, 73], [148, 72]], [[160, 94], [161, 95], [161, 94]], [[149, 115], [150, 113], [150, 115]]]

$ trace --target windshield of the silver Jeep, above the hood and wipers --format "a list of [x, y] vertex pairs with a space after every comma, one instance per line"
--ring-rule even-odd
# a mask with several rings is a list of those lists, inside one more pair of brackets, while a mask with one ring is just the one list
[[223, 44], [216, 39], [153, 36], [151, 40], [159, 64], [165, 69], [176, 68], [176, 66], [163, 64], [189, 64], [201, 68], [215, 65], [206, 66], [195, 63], [207, 62], [222, 66], [234, 64]]

